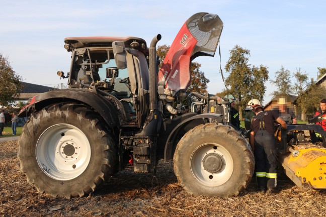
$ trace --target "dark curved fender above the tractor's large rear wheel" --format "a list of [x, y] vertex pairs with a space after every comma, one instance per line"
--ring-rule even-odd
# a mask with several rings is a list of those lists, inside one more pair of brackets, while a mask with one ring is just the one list
[[[114, 128], [123, 121], [124, 110], [121, 103], [114, 96], [110, 99], [97, 94], [89, 89], [59, 89], [41, 93], [32, 98], [20, 112], [19, 117], [26, 117], [30, 114], [42, 110], [47, 105], [60, 102], [82, 102], [94, 108], [105, 120], [110, 128]], [[118, 114], [117, 111], [121, 111]], [[119, 117], [119, 118], [118, 118]], [[120, 119], [120, 120], [119, 120]]]

